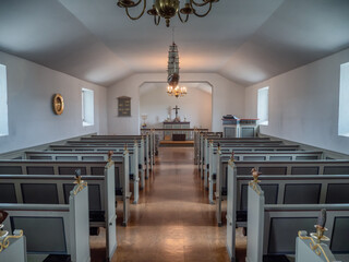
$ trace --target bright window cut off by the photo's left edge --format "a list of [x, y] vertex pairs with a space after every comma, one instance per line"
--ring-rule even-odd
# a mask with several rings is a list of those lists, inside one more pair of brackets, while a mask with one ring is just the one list
[[7, 67], [0, 64], [0, 136], [9, 134]]

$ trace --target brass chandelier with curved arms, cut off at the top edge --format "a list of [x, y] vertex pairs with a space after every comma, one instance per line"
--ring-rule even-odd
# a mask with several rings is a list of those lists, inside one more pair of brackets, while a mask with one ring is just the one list
[[[183, 2], [184, 0], [182, 0]], [[178, 14], [179, 20], [182, 23], [186, 23], [190, 14], [195, 14], [198, 17], [206, 16], [210, 10], [212, 4], [214, 2], [218, 2], [219, 0], [198, 0], [201, 2], [195, 2], [195, 0], [185, 0], [184, 7], [180, 9], [180, 0], [153, 0], [153, 8], [147, 10], [147, 14], [154, 16], [154, 23], [158, 25], [160, 23], [161, 17], [166, 21], [166, 26], [170, 26], [170, 19], [172, 19], [176, 14]], [[135, 8], [143, 2], [143, 10], [139, 14], [139, 16], [131, 16], [129, 9]], [[208, 9], [205, 13], [197, 13], [194, 7], [202, 8], [208, 5]], [[146, 9], [146, 0], [137, 0], [137, 2], [133, 0], [118, 0], [118, 7], [125, 9], [127, 15], [131, 20], [139, 20], [145, 12]], [[182, 15], [184, 17], [182, 17]]]

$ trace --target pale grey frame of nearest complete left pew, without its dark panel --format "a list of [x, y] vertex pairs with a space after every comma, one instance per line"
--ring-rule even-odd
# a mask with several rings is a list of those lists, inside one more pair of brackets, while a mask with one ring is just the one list
[[[71, 192], [69, 204], [0, 204], [0, 210], [9, 213], [4, 226], [11, 228], [11, 217], [61, 217], [64, 228], [67, 253], [72, 262], [89, 262], [88, 234], [88, 188], [85, 187], [76, 194], [76, 184]], [[25, 231], [24, 231], [25, 235]], [[39, 237], [39, 236], [38, 236]], [[28, 239], [27, 239], [28, 240]], [[43, 252], [41, 252], [43, 254]], [[47, 253], [48, 255], [49, 253]]]

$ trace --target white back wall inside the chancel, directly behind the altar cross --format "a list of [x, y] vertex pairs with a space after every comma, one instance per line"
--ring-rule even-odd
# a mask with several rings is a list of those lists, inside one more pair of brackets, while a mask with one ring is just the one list
[[[145, 84], [147, 85], [147, 84]], [[146, 88], [145, 85], [141, 86]], [[163, 122], [170, 114], [170, 118], [176, 117], [174, 110], [168, 110], [174, 108], [176, 105], [180, 108], [178, 116], [181, 121], [190, 121], [191, 128], [206, 128], [210, 130], [212, 126], [212, 94], [204, 92], [197, 87], [188, 87], [188, 94], [183, 97], [176, 98], [169, 96], [166, 93], [167, 84], [164, 83], [159, 86], [148, 90], [145, 94], [141, 94], [140, 98], [140, 114], [147, 115], [147, 128], [163, 128]], [[143, 120], [142, 120], [143, 122]]]

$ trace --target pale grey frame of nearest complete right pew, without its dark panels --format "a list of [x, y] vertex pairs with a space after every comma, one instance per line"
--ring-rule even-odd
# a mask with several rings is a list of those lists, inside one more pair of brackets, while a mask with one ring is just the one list
[[[251, 218], [248, 221], [248, 227], [250, 228], [246, 249], [248, 262], [263, 261], [263, 255], [268, 253], [269, 231], [273, 218], [310, 217], [314, 218], [315, 225], [320, 211], [325, 209], [327, 212], [326, 228], [328, 228], [325, 235], [334, 241], [333, 229], [335, 219], [337, 217], [349, 216], [349, 204], [265, 205], [264, 201], [263, 190], [257, 183], [252, 182], [249, 186], [249, 213], [251, 212]], [[299, 230], [302, 229], [299, 228]], [[287, 235], [286, 237], [290, 236]], [[293, 237], [296, 239], [297, 233]]]

